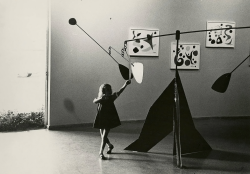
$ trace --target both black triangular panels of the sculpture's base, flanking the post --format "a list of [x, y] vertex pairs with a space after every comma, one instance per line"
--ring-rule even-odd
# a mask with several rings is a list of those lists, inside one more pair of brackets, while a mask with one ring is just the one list
[[[161, 96], [151, 106], [139, 138], [125, 150], [147, 152], [173, 130], [174, 83], [168, 85]], [[177, 86], [180, 103], [180, 137], [181, 153], [193, 153], [211, 150], [209, 144], [196, 130], [188, 106], [184, 89], [177, 71]], [[173, 146], [174, 155], [176, 154]]]

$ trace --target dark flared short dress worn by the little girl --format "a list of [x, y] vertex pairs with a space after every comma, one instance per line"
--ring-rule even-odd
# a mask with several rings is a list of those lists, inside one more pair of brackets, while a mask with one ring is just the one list
[[97, 129], [112, 129], [121, 125], [118, 113], [115, 108], [114, 101], [117, 98], [117, 93], [106, 97], [98, 103], [97, 115], [94, 121], [94, 128]]

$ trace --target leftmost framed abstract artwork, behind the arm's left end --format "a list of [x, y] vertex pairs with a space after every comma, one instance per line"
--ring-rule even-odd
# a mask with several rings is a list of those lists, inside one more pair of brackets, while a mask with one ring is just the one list
[[158, 56], [159, 55], [159, 37], [158, 29], [130, 29], [129, 40], [145, 38], [128, 42], [130, 56]]

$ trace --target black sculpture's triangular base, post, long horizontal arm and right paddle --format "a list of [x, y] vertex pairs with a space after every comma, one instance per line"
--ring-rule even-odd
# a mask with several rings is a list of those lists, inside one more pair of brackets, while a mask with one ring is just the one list
[[[244, 29], [244, 28], [250, 28], [250, 27], [235, 27], [230, 29]], [[228, 28], [197, 30], [197, 31], [188, 31], [182, 33], [179, 30], [177, 30], [176, 33], [172, 34], [147, 36], [147, 39], [152, 39], [153, 37], [170, 36], [170, 35], [176, 36], [177, 51], [175, 56], [175, 64], [176, 64], [175, 78], [163, 91], [163, 93], [155, 101], [155, 103], [150, 107], [139, 138], [132, 144], [130, 144], [128, 147], [126, 147], [125, 150], [147, 152], [172, 131], [174, 136], [173, 155], [176, 155], [177, 167], [179, 168], [183, 167], [181, 159], [182, 154], [212, 150], [210, 145], [196, 130], [192, 119], [192, 115], [178, 73], [178, 67], [177, 67], [178, 45], [179, 45], [180, 34], [205, 32], [211, 30], [224, 30], [224, 29]], [[138, 38], [136, 40], [139, 39], [146, 39], [146, 38]], [[126, 40], [124, 43], [127, 43], [129, 41], [134, 41], [134, 40]], [[244, 61], [242, 61], [233, 71], [235, 71]], [[218, 78], [216, 82], [213, 84], [212, 89], [217, 92], [225, 92], [229, 84], [232, 72], [224, 74], [220, 78]]]

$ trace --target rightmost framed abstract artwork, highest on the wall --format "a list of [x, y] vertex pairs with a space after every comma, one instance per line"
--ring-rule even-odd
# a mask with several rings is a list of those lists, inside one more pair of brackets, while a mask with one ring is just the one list
[[[235, 22], [212, 22], [207, 21], [206, 47], [234, 47], [235, 44]], [[222, 29], [224, 30], [213, 30]]]

